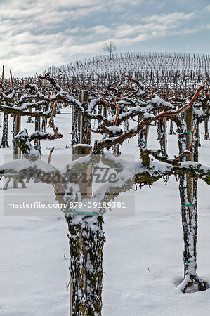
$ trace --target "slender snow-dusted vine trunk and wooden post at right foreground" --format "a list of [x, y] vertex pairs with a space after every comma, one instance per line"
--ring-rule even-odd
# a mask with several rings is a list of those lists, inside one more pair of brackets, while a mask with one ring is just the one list
[[[190, 107], [185, 112], [185, 128], [179, 135], [179, 151], [180, 153], [189, 150], [192, 141], [192, 123], [193, 108]], [[197, 142], [195, 146], [197, 147]], [[195, 150], [197, 152], [197, 150]], [[195, 155], [197, 157], [197, 155]], [[193, 152], [188, 154], [187, 158], [182, 160], [193, 161]], [[179, 185], [181, 197], [181, 216], [183, 225], [183, 263], [184, 263], [184, 279], [180, 285], [181, 291], [204, 291], [207, 288], [207, 282], [202, 281], [197, 276], [197, 179], [193, 179], [189, 175], [180, 177]]]

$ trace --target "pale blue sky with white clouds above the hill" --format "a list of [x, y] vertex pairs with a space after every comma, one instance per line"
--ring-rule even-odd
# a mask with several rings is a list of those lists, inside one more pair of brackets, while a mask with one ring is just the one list
[[[94, 55], [209, 54], [209, 0], [0, 0], [0, 61], [15, 77]], [[0, 65], [0, 66], [1, 66]]]

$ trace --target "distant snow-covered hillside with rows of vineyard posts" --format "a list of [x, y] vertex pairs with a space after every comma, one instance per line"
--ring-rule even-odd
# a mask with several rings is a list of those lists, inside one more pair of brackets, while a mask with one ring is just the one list
[[210, 73], [210, 56], [188, 53], [125, 53], [86, 58], [60, 67], [51, 67], [53, 75], [63, 73], [65, 79], [86, 85], [110, 84], [128, 74], [133, 79], [148, 79], [154, 88], [192, 91]]

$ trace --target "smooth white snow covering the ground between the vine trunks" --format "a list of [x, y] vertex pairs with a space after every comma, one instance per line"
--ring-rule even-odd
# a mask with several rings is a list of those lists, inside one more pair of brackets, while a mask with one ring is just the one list
[[[23, 118], [22, 127], [32, 133], [34, 124], [25, 121]], [[42, 140], [43, 154], [48, 154], [51, 147], [55, 147], [53, 155], [71, 154], [71, 148], [66, 148], [71, 137], [70, 114], [58, 115], [57, 125], [64, 136], [51, 143]], [[203, 129], [202, 124], [202, 133]], [[11, 145], [11, 126], [8, 131]], [[156, 126], [152, 126], [149, 148], [159, 148], [156, 139]], [[203, 139], [201, 134], [199, 162], [210, 167], [210, 141]], [[177, 135], [168, 136], [169, 157], [178, 153], [176, 144]], [[123, 145], [122, 153], [128, 152], [138, 159], [136, 137]], [[4, 154], [11, 153], [12, 147], [1, 149], [1, 163]], [[0, 185], [2, 188], [3, 180]], [[0, 192], [2, 205], [3, 190]], [[210, 187], [199, 180], [197, 273], [210, 284], [209, 195]], [[55, 199], [53, 191], [51, 198]], [[210, 289], [192, 294], [182, 294], [178, 289], [183, 280], [178, 183], [171, 177], [166, 185], [159, 180], [151, 189], [138, 188], [135, 203], [135, 216], [105, 215], [103, 316], [209, 315]], [[58, 210], [55, 216], [4, 216], [1, 208], [0, 234], [0, 315], [69, 315], [69, 245], [63, 213]]]

